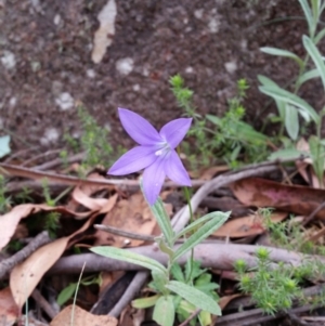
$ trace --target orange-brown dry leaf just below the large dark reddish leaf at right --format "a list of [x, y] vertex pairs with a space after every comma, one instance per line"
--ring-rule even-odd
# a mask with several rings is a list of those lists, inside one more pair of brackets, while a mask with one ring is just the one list
[[[272, 213], [272, 222], [282, 222], [288, 213], [278, 212]], [[218, 229], [212, 235], [224, 237], [246, 237], [259, 235], [265, 232], [263, 226], [263, 218], [259, 214], [251, 214], [249, 217], [235, 219], [226, 222]]]

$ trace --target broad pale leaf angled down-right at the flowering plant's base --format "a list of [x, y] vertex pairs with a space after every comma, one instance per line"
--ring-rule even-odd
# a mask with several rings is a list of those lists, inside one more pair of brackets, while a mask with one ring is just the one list
[[170, 281], [166, 287], [196, 308], [206, 310], [214, 315], [221, 315], [221, 309], [218, 303], [203, 291], [178, 281]]

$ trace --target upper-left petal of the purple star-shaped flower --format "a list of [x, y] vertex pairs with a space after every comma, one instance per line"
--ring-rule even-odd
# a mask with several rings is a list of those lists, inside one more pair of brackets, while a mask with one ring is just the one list
[[161, 142], [158, 131], [140, 115], [118, 108], [119, 119], [127, 133], [140, 145], [153, 145]]

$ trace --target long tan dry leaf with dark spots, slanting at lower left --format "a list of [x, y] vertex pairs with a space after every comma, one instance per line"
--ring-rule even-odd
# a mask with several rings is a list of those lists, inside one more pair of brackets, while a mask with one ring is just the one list
[[91, 225], [95, 217], [93, 216], [89, 219], [82, 227], [72, 235], [38, 248], [24, 262], [12, 270], [10, 274], [10, 288], [20, 308], [23, 307], [46, 272], [57, 261], [65, 249], [75, 242], [75, 237]]

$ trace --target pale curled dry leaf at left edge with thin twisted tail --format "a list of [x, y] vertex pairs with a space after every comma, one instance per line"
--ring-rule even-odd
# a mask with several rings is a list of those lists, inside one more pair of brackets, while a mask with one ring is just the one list
[[35, 205], [35, 204], [23, 204], [15, 206], [10, 212], [0, 216], [0, 250], [10, 242], [11, 237], [15, 233], [16, 226], [22, 219], [27, 218], [32, 213], [37, 213], [41, 210], [44, 211], [58, 211], [62, 213], [68, 213], [72, 216], [78, 216], [84, 218], [89, 216], [87, 213], [77, 213], [66, 209], [65, 207], [52, 207], [46, 204]]

